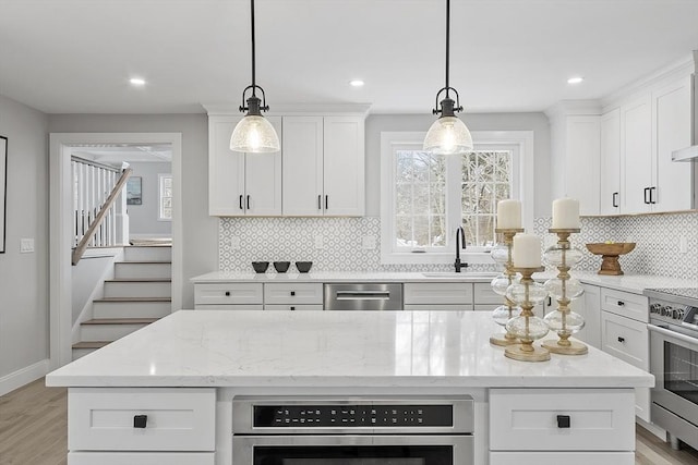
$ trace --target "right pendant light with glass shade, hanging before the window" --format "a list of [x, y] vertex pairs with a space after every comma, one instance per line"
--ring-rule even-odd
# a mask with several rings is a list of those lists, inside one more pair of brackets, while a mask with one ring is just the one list
[[[450, 0], [446, 0], [446, 86], [436, 93], [436, 106], [433, 114], [441, 114], [438, 120], [429, 129], [424, 137], [424, 150], [433, 154], [464, 154], [472, 150], [472, 136], [456, 112], [462, 111], [458, 91], [448, 85], [449, 40], [450, 40]], [[438, 96], [446, 93], [440, 102]], [[450, 91], [456, 94], [456, 100], [450, 98]], [[441, 108], [440, 108], [441, 107]]]

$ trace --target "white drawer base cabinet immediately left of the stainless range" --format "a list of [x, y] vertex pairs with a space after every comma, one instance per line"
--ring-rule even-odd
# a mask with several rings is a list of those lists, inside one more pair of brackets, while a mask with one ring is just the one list
[[[601, 287], [601, 348], [649, 371], [648, 302], [643, 295]], [[650, 390], [635, 390], [635, 413], [650, 421]]]

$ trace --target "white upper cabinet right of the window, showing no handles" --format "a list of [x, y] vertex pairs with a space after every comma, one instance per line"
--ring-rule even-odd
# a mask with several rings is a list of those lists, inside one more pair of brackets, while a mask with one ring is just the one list
[[576, 198], [581, 215], [599, 215], [600, 109], [565, 102], [546, 113], [552, 126], [553, 196]]

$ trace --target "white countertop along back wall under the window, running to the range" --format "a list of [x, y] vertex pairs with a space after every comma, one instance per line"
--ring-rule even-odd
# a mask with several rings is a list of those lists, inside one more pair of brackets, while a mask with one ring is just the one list
[[[611, 287], [618, 291], [641, 294], [653, 287], [698, 287], [698, 281], [650, 274], [601, 276], [589, 271], [569, 272], [586, 284]], [[310, 273], [254, 273], [236, 271], [213, 271], [191, 279], [194, 283], [221, 282], [490, 282], [496, 272], [362, 272], [362, 271], [318, 271]], [[537, 280], [554, 277], [555, 271], [533, 274]]]

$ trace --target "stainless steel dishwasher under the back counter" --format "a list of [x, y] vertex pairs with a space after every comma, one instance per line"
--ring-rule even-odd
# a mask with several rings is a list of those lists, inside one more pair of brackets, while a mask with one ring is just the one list
[[402, 284], [325, 284], [325, 310], [401, 310]]

